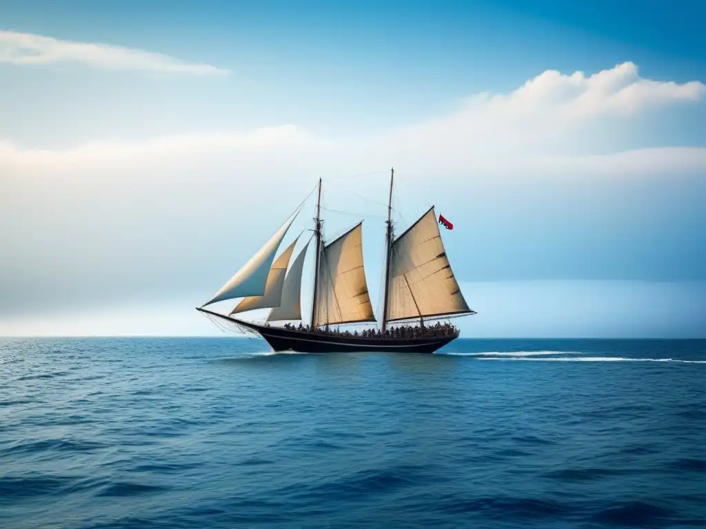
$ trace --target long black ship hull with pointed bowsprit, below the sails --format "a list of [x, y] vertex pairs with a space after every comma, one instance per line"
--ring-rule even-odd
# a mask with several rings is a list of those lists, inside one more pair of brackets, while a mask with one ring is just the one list
[[458, 337], [458, 334], [451, 334], [449, 336], [423, 336], [411, 339], [340, 336], [338, 334], [325, 332], [307, 332], [285, 329], [284, 327], [268, 327], [266, 325], [237, 320], [236, 318], [202, 308], [197, 310], [257, 332], [275, 351], [297, 351], [298, 353], [352, 353], [363, 351], [433, 353]]

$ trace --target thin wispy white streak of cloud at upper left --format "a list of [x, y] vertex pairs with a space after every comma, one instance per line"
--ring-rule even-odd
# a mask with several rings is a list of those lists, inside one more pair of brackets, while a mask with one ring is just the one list
[[95, 42], [73, 42], [31, 33], [0, 30], [0, 62], [49, 64], [78, 62], [104, 70], [133, 70], [193, 75], [225, 74], [209, 64], [186, 63], [170, 57]]

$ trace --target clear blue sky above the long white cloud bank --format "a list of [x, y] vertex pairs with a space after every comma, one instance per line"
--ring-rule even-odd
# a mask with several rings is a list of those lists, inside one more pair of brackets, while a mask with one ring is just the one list
[[[63, 130], [67, 144], [92, 133], [132, 137], [133, 113], [142, 116], [145, 136], [176, 127], [280, 123], [323, 134], [340, 128], [366, 133], [436, 116], [477, 92], [514, 90], [547, 68], [594, 72], [633, 61], [646, 78], [684, 82], [706, 76], [706, 37], [695, 22], [705, 8], [696, 2], [681, 9], [679, 2], [330, 4], [27, 1], [6, 6], [6, 29], [159, 51], [233, 71], [227, 78], [167, 84], [149, 75], [101, 75], [73, 65], [68, 73], [67, 65], [51, 72], [13, 68], [4, 72], [13, 76], [8, 96], [17, 103], [10, 116], [25, 111], [21, 102], [28, 95], [53, 128], [77, 112], [96, 111], [107, 99], [120, 102], [109, 120], [84, 118], [91, 127], [83, 134], [78, 127]], [[49, 75], [52, 90], [45, 90]], [[696, 119], [706, 118], [703, 111], [685, 116], [669, 120], [670, 144], [692, 144], [696, 132], [706, 132], [699, 126], [706, 119]], [[41, 145], [46, 137], [30, 124], [17, 128], [27, 143]], [[651, 136], [643, 141], [664, 142], [664, 135], [654, 137], [655, 128], [642, 134]]]

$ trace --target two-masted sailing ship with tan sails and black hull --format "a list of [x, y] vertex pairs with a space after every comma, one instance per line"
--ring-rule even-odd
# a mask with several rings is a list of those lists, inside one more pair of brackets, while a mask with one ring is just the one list
[[[295, 238], [275, 255], [304, 202], [265, 245], [196, 310], [215, 321], [258, 334], [275, 351], [333, 353], [390, 351], [433, 353], [459, 336], [457, 327], [440, 320], [472, 315], [451, 269], [441, 239], [434, 207], [395, 236], [391, 218], [395, 170], [390, 172], [390, 194], [385, 234], [385, 282], [381, 326], [361, 333], [340, 332], [342, 324], [376, 323], [363, 263], [362, 221], [333, 241], [323, 237], [321, 178], [313, 229], [315, 242], [310, 324], [302, 323], [301, 276], [309, 243], [289, 266]], [[445, 222], [445, 219], [441, 219]], [[287, 272], [287, 269], [289, 271]], [[242, 298], [229, 314], [205, 308], [219, 301]], [[250, 310], [270, 308], [265, 322], [234, 317]], [[297, 327], [289, 322], [299, 322]], [[436, 322], [435, 322], [436, 321]], [[276, 323], [279, 322], [280, 325]], [[287, 322], [286, 324], [281, 324]], [[414, 322], [414, 325], [409, 325]], [[333, 326], [337, 326], [333, 329]]]

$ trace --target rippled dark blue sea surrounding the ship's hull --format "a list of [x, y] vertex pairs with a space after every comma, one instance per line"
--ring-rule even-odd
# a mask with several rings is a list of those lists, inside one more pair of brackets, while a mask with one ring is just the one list
[[706, 341], [443, 352], [4, 339], [0, 527], [706, 526]]

